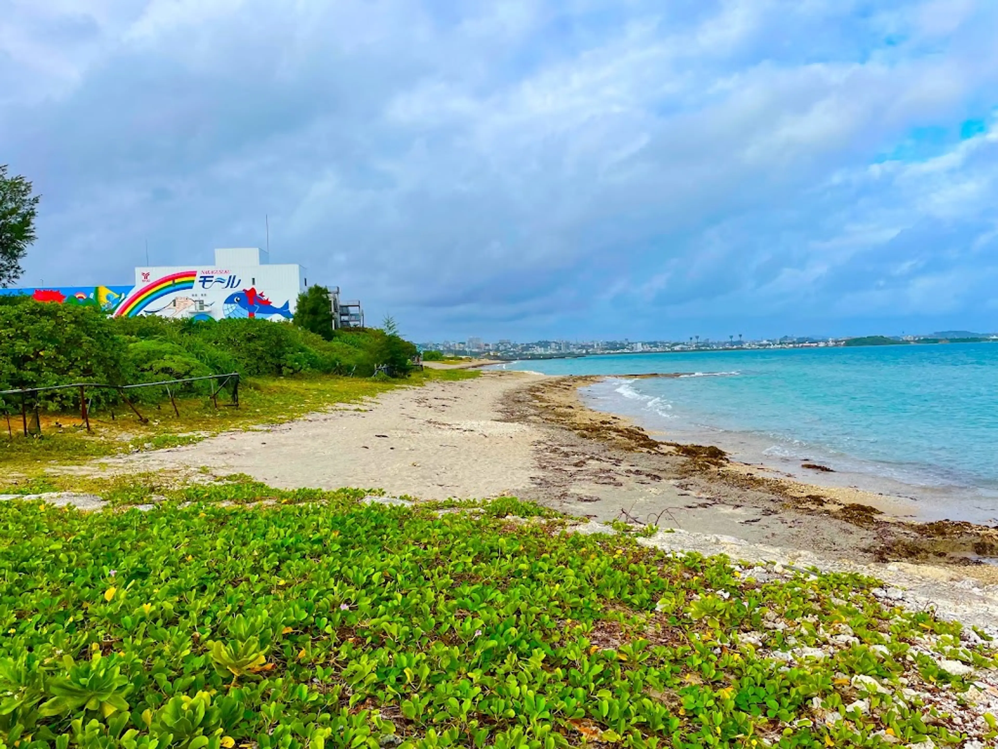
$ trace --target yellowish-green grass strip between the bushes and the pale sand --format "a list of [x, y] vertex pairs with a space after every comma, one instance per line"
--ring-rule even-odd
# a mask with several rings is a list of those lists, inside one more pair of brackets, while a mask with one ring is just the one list
[[[426, 370], [405, 379], [333, 375], [251, 377], [240, 386], [239, 408], [222, 406], [225, 398], [221, 394], [218, 409], [205, 397], [179, 400], [179, 417], [169, 402], [140, 405], [140, 411], [149, 419], [145, 424], [127, 408], [124, 411], [121, 406], [114, 411], [102, 408], [91, 413], [90, 433], [80, 424], [79, 413], [43, 414], [42, 436], [28, 438], [19, 431], [20, 419], [11, 418], [13, 438], [0, 436], [0, 474], [31, 478], [53, 463], [79, 463], [122, 452], [178, 447], [229, 429], [279, 423], [334, 405], [360, 403], [398, 386], [477, 375]], [[0, 425], [6, 429], [6, 422]]]

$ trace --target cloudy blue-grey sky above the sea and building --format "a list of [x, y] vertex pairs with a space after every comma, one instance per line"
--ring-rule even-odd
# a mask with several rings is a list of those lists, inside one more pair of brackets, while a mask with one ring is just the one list
[[0, 0], [22, 283], [262, 247], [415, 340], [998, 331], [994, 0]]

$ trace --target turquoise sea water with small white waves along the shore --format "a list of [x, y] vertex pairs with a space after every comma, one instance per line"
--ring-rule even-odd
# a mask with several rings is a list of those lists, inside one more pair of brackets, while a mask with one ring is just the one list
[[[504, 365], [612, 375], [594, 407], [814, 483], [911, 500], [913, 515], [998, 522], [998, 344], [648, 354]], [[633, 379], [648, 373], [681, 377]], [[827, 465], [834, 473], [804, 469]]]

